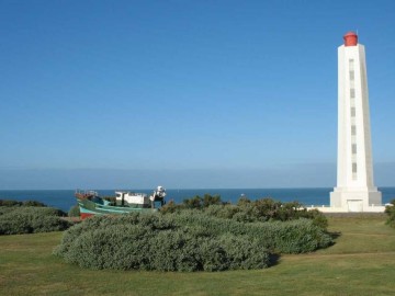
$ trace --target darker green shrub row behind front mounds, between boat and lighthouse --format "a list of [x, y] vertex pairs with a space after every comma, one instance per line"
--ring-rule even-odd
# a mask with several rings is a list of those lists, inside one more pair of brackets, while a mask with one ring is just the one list
[[312, 219], [315, 225], [323, 229], [327, 229], [328, 227], [327, 218], [319, 210], [307, 210], [298, 202], [282, 203], [272, 198], [250, 201], [247, 197], [241, 197], [236, 205], [232, 205], [223, 203], [219, 195], [211, 196], [210, 194], [205, 194], [204, 197], [198, 195], [193, 198], [184, 200], [182, 204], [176, 204], [170, 201], [160, 212], [168, 214], [191, 208], [202, 210], [217, 218], [234, 219], [244, 223], [269, 220], [286, 221], [307, 218]]

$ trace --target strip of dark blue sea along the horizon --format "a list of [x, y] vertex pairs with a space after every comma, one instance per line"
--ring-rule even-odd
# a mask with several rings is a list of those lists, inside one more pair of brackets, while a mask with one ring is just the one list
[[[395, 198], [395, 187], [380, 187], [383, 194], [383, 204], [390, 203]], [[150, 194], [153, 190], [128, 190]], [[271, 197], [281, 202], [297, 201], [305, 206], [328, 206], [329, 192], [331, 187], [320, 189], [170, 189], [167, 190], [166, 201], [181, 203], [185, 198], [204, 194], [221, 195], [223, 202], [236, 203], [241, 196], [250, 200]], [[100, 196], [112, 196], [115, 190], [99, 190]], [[0, 200], [14, 201], [38, 201], [48, 206], [68, 212], [77, 204], [74, 196], [75, 190], [0, 190]]]

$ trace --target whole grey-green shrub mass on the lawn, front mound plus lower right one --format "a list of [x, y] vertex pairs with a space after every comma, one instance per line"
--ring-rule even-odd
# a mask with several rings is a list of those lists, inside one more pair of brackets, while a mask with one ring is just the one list
[[309, 252], [331, 238], [311, 220], [245, 224], [198, 210], [92, 217], [69, 228], [54, 253], [90, 269], [263, 269], [270, 253]]

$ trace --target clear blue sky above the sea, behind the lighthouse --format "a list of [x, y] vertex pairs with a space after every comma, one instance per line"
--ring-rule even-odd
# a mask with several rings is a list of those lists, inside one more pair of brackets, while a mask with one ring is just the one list
[[395, 185], [395, 1], [0, 0], [0, 189], [334, 186], [337, 47]]

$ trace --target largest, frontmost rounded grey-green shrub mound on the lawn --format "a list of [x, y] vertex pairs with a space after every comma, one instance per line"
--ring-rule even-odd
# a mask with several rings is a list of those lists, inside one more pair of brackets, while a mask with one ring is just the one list
[[68, 229], [54, 253], [83, 267], [115, 270], [224, 271], [270, 262], [258, 240], [182, 225], [178, 214], [93, 217]]

